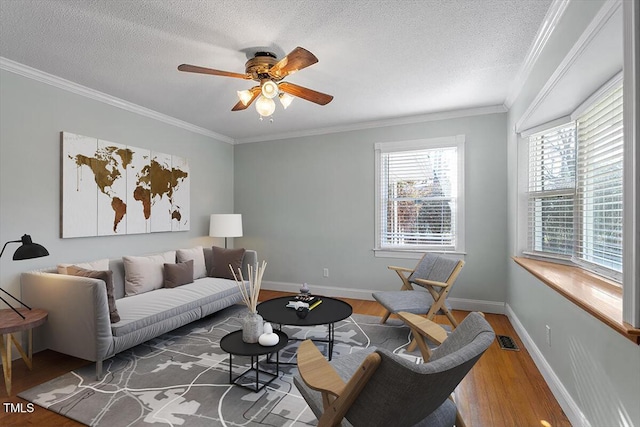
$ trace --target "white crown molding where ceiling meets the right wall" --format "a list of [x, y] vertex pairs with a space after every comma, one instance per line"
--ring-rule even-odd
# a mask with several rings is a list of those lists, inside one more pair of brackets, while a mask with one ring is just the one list
[[504, 102], [507, 108], [511, 108], [516, 98], [518, 98], [518, 95], [520, 95], [520, 92], [524, 87], [524, 83], [529, 78], [534, 65], [547, 45], [551, 34], [556, 29], [560, 18], [562, 18], [564, 12], [567, 10], [569, 2], [570, 0], [554, 0], [553, 3], [551, 3], [551, 6], [549, 6], [549, 10], [547, 10], [547, 14], [542, 21], [542, 25], [538, 28], [536, 38], [531, 44], [531, 47], [529, 47], [527, 56], [525, 57], [525, 60], [511, 85], [507, 99]]

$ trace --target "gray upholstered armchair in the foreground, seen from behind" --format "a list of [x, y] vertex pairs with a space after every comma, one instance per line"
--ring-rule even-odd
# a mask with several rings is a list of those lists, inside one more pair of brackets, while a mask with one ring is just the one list
[[370, 348], [328, 362], [311, 341], [298, 350], [294, 383], [319, 426], [454, 426], [451, 394], [495, 338], [478, 313], [415, 364]]

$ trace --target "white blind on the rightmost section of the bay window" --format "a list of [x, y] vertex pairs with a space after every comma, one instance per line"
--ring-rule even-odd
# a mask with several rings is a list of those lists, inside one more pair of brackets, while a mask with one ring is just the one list
[[622, 272], [622, 85], [577, 118], [575, 259], [586, 267]]

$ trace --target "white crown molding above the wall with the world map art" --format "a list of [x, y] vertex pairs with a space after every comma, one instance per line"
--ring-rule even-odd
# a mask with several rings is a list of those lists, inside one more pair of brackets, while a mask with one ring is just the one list
[[36, 80], [40, 83], [45, 83], [45, 84], [57, 87], [58, 89], [66, 90], [76, 95], [84, 96], [86, 98], [90, 98], [95, 101], [99, 101], [107, 105], [111, 105], [113, 107], [118, 107], [123, 110], [129, 111], [135, 114], [139, 114], [144, 117], [158, 120], [160, 122], [166, 123], [171, 126], [185, 129], [190, 132], [207, 136], [209, 138], [214, 138], [219, 141], [226, 142], [228, 144], [233, 144], [235, 142], [233, 138], [230, 138], [226, 135], [221, 135], [219, 133], [212, 132], [208, 129], [204, 129], [199, 126], [193, 125], [191, 123], [187, 123], [185, 121], [176, 119], [174, 117], [167, 116], [166, 114], [162, 114], [157, 111], [150, 110], [145, 107], [141, 107], [140, 105], [131, 103], [129, 101], [125, 101], [120, 98], [116, 98], [115, 96], [108, 95], [106, 93], [88, 88], [86, 86], [79, 85], [77, 83], [71, 82], [61, 77], [54, 76], [49, 73], [45, 73], [44, 71], [37, 70], [35, 68], [29, 67], [27, 65], [21, 64], [19, 62], [16, 62], [1, 56], [0, 56], [0, 69], [9, 71], [14, 74], [18, 74], [20, 76], [23, 76], [32, 80]]

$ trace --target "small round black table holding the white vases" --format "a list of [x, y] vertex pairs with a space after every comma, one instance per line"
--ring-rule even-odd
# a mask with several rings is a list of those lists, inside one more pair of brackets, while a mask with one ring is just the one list
[[[273, 331], [278, 334], [278, 344], [273, 346], [263, 346], [258, 343], [250, 344], [242, 341], [242, 330], [231, 332], [230, 334], [225, 335], [220, 340], [220, 348], [225, 352], [229, 353], [229, 384], [235, 384], [240, 387], [245, 387], [255, 392], [262, 390], [265, 386], [271, 384], [273, 380], [278, 378], [278, 373], [280, 372], [280, 357], [278, 356], [280, 350], [282, 350], [289, 341], [289, 337], [282, 331]], [[269, 355], [271, 353], [276, 354], [276, 373], [273, 374], [269, 371], [265, 371], [260, 369], [258, 365], [258, 358], [260, 356]], [[250, 356], [251, 357], [251, 366], [249, 369], [238, 375], [236, 378], [233, 378], [233, 356]], [[255, 372], [255, 384], [253, 382], [242, 383], [243, 379], [247, 378], [247, 374], [250, 372]], [[266, 375], [269, 380], [260, 382], [260, 374]], [[253, 378], [251, 378], [253, 379]]]

